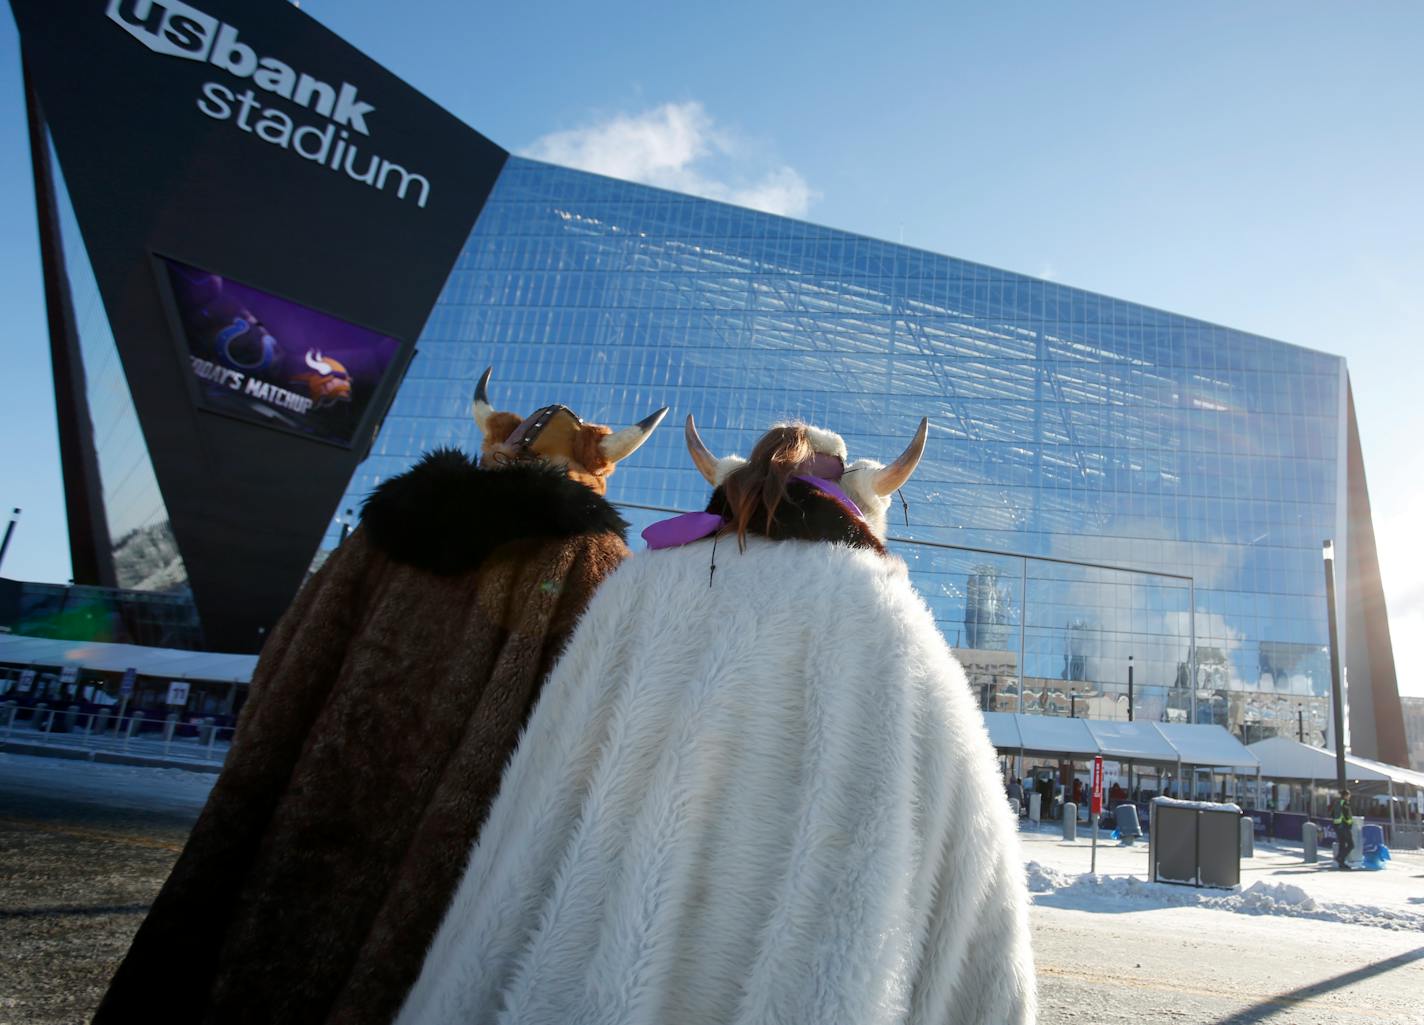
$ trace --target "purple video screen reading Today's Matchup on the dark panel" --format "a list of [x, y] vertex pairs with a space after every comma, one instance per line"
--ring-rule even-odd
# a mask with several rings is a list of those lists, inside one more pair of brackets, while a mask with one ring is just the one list
[[159, 256], [204, 409], [349, 446], [400, 342]]

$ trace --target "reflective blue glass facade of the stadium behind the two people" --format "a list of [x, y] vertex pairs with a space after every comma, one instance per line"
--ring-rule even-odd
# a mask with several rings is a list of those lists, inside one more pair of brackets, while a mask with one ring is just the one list
[[706, 501], [688, 413], [715, 451], [795, 417], [880, 460], [927, 416], [891, 534], [984, 708], [1125, 719], [1131, 673], [1139, 719], [1324, 737], [1337, 356], [511, 158], [323, 548], [423, 451], [477, 448], [486, 366], [500, 409], [672, 407], [609, 483], [635, 530]]

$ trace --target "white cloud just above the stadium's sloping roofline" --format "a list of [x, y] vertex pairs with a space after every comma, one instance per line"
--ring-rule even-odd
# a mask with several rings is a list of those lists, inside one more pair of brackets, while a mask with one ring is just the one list
[[716, 125], [696, 101], [550, 132], [523, 155], [785, 216], [806, 216], [816, 199], [800, 172], [768, 167], [755, 147]]

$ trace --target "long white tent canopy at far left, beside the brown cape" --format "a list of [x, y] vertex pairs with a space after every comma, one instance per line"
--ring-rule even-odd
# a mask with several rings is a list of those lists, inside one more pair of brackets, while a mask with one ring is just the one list
[[100, 672], [124, 672], [132, 668], [140, 676], [159, 679], [248, 683], [258, 656], [0, 634], [0, 663], [37, 669], [77, 666]]

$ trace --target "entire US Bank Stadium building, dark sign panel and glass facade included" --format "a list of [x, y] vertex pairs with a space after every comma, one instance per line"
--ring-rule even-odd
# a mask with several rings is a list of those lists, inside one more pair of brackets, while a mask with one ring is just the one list
[[[1351, 749], [1405, 764], [1343, 357], [510, 155], [279, 0], [11, 7], [75, 579], [6, 582], [14, 634], [258, 651], [373, 485], [477, 448], [493, 366], [501, 407], [719, 451], [928, 417], [893, 547], [1020, 737], [1321, 745], [1330, 540]], [[661, 430], [609, 497], [635, 532], [706, 485]]]

